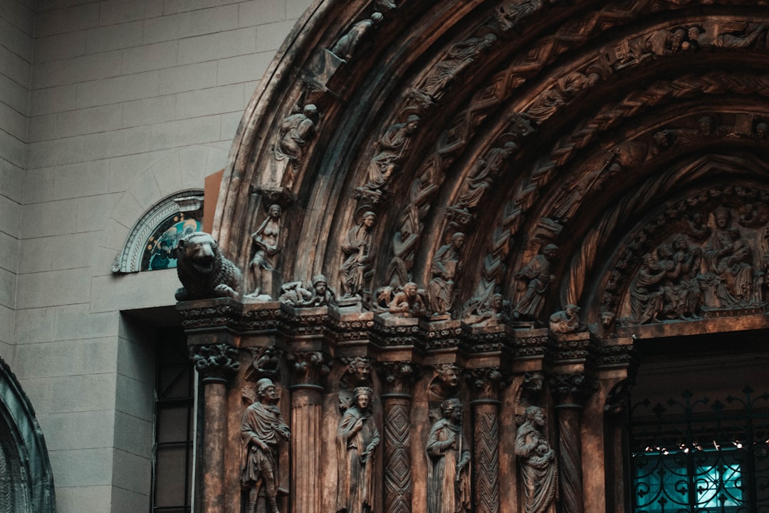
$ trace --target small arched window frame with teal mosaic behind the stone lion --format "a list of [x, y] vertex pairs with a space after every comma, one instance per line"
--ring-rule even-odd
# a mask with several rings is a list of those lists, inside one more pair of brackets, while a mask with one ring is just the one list
[[176, 267], [179, 238], [202, 227], [203, 191], [188, 189], [166, 197], [150, 208], [128, 234], [112, 272], [153, 271]]

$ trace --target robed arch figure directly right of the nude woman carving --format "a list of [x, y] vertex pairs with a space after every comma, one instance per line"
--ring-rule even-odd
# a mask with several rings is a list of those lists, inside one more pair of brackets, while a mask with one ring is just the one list
[[371, 228], [374, 227], [376, 214], [365, 212], [361, 224], [350, 228], [341, 251], [345, 261], [339, 268], [341, 275], [341, 290], [343, 297], [351, 298], [361, 295], [365, 285], [371, 279], [374, 264], [374, 248], [371, 246]]

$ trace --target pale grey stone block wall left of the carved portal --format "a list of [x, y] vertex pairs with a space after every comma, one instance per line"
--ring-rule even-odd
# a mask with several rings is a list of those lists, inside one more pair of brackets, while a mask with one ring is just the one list
[[174, 270], [113, 275], [155, 202], [226, 164], [309, 0], [0, 0], [0, 356], [36, 409], [58, 511], [146, 511], [152, 333]]

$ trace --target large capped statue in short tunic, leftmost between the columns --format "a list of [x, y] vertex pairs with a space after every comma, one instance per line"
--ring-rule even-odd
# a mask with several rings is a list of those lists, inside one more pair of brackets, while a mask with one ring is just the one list
[[258, 400], [246, 408], [241, 423], [243, 466], [241, 483], [248, 488], [248, 513], [278, 511], [278, 444], [289, 441], [291, 431], [278, 409], [275, 384], [256, 382]]

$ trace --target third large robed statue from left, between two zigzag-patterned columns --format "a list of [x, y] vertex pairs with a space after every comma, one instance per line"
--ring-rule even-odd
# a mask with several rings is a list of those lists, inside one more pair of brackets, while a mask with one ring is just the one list
[[441, 403], [443, 418], [428, 436], [428, 513], [470, 511], [470, 449], [462, 432], [462, 403]]

